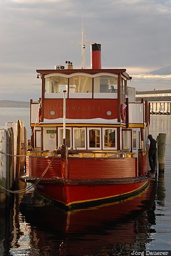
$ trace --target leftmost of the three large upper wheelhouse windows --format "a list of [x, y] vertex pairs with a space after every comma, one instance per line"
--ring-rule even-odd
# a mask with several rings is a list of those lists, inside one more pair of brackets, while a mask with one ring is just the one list
[[45, 98], [63, 98], [63, 90], [68, 91], [68, 78], [51, 76], [45, 78]]

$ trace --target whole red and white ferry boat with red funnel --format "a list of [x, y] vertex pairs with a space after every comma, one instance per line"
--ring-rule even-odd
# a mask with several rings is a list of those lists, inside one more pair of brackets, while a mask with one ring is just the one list
[[41, 98], [31, 100], [31, 146], [20, 179], [66, 209], [143, 191], [152, 177], [148, 102], [135, 102], [126, 69], [101, 68], [101, 44], [91, 45], [91, 69], [66, 63], [37, 70]]

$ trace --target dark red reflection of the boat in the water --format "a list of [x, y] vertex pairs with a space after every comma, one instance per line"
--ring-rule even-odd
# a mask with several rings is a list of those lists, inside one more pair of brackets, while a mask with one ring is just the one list
[[39, 250], [37, 255], [127, 255], [144, 250], [150, 241], [154, 199], [152, 181], [147, 190], [120, 203], [64, 212], [36, 196], [32, 204], [23, 199], [20, 211], [30, 225], [31, 248]]

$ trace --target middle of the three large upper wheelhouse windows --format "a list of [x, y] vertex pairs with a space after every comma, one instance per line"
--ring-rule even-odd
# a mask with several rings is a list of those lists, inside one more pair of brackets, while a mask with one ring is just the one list
[[70, 98], [91, 98], [92, 78], [88, 76], [73, 76], [69, 79]]

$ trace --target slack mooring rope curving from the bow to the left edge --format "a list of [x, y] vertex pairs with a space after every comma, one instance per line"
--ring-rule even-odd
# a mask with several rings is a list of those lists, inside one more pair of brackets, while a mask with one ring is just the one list
[[[56, 151], [56, 152], [57, 152], [57, 151]], [[48, 166], [45, 168], [44, 172], [40, 175], [40, 177], [38, 178], [38, 180], [37, 180], [34, 184], [30, 185], [30, 186], [27, 187], [27, 188], [23, 188], [23, 189], [20, 189], [20, 190], [15, 190], [15, 191], [6, 189], [6, 188], [2, 187], [2, 185], [0, 185], [0, 188], [3, 189], [3, 190], [5, 190], [5, 191], [7, 191], [7, 192], [9, 192], [9, 193], [19, 194], [19, 193], [27, 192], [27, 191], [30, 190], [31, 188], [35, 187], [35, 185], [37, 185], [37, 184], [40, 182], [40, 180], [43, 178], [43, 176], [47, 173], [47, 171], [49, 170], [49, 167], [51, 167], [51, 164], [52, 164], [52, 162], [53, 162], [53, 160], [54, 160], [54, 158], [55, 158], [55, 156], [56, 156], [56, 152], [55, 152], [55, 155], [52, 157], [51, 162], [49, 162], [49, 164], [48, 164]]]

